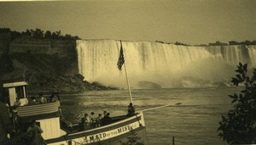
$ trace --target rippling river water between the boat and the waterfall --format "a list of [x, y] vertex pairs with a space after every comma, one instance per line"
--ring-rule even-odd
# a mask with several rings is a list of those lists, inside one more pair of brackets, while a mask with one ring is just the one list
[[[227, 144], [218, 137], [218, 122], [231, 106], [228, 95], [237, 87], [131, 90], [137, 110], [170, 105], [144, 112], [149, 145]], [[126, 90], [90, 91], [61, 95], [61, 109], [67, 120], [79, 122], [84, 113], [111, 116], [126, 114], [130, 103]]]

